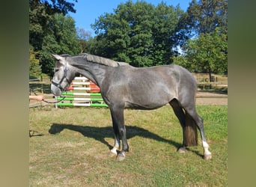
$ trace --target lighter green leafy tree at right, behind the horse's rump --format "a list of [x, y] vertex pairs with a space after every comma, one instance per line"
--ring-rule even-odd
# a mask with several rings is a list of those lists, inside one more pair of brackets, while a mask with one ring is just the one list
[[175, 64], [180, 64], [193, 72], [225, 73], [228, 71], [228, 43], [226, 35], [216, 28], [211, 34], [201, 34], [198, 39], [191, 39], [184, 46], [186, 55], [174, 58]]

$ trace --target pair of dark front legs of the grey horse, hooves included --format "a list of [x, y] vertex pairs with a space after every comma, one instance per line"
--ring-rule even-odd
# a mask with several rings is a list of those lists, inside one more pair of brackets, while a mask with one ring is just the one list
[[129, 146], [127, 143], [127, 133], [124, 126], [124, 108], [112, 108], [112, 120], [113, 128], [115, 132], [115, 146], [111, 152], [116, 152], [120, 146], [120, 139], [122, 140], [122, 150], [118, 154], [117, 160], [122, 161], [125, 159], [125, 152], [129, 151]]

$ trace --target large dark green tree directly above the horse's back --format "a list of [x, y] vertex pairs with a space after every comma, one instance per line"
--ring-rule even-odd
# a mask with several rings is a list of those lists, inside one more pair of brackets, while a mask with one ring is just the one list
[[160, 3], [127, 1], [105, 13], [92, 25], [97, 37], [91, 53], [135, 67], [170, 64], [173, 47], [177, 45], [176, 26], [183, 11]]

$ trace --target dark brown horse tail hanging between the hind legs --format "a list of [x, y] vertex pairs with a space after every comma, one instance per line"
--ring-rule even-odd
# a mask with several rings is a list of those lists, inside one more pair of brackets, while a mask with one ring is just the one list
[[198, 129], [195, 120], [186, 112], [184, 144], [186, 147], [198, 145]]

